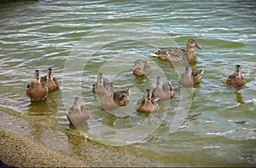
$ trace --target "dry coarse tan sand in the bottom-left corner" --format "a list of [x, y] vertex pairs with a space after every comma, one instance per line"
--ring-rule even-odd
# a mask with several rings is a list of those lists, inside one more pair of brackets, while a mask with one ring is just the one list
[[0, 158], [15, 167], [81, 167], [83, 162], [0, 127]]

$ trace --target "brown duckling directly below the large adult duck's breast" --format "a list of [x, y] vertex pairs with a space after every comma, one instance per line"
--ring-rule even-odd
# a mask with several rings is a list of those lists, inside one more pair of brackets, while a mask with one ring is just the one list
[[192, 67], [188, 64], [185, 67], [185, 72], [179, 79], [179, 84], [183, 86], [196, 85], [201, 82], [204, 70], [192, 70]]

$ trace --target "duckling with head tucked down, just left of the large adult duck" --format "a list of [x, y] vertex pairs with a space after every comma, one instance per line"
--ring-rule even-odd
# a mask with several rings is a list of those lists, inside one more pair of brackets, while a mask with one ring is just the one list
[[151, 73], [150, 64], [148, 59], [137, 59], [133, 66], [134, 76], [147, 76]]

